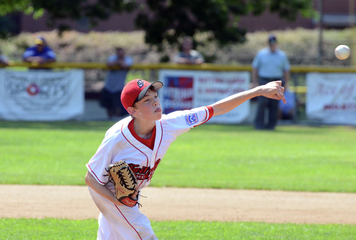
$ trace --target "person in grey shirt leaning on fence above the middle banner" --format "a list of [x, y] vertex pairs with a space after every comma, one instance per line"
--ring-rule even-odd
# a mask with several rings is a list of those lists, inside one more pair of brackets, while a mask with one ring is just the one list
[[182, 42], [182, 51], [174, 57], [175, 63], [182, 64], [201, 64], [204, 57], [196, 50], [193, 50], [193, 38], [185, 36]]

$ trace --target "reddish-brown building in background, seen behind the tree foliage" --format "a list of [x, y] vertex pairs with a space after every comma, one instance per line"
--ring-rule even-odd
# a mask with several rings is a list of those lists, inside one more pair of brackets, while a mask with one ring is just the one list
[[[318, 2], [323, 2], [323, 26], [326, 28], [342, 28], [355, 24], [355, 16], [350, 18], [350, 14], [355, 12], [355, 0], [314, 0], [315, 10], [318, 9]], [[353, 6], [353, 7], [352, 7]], [[72, 29], [87, 32], [93, 31], [132, 31], [135, 30], [134, 19], [137, 12], [114, 14], [108, 21], [100, 21], [96, 27], [91, 28], [86, 19], [80, 21], [66, 21]], [[46, 25], [46, 15], [38, 20], [32, 18], [31, 15], [19, 14], [17, 16], [19, 30], [21, 32], [37, 32], [52, 30]], [[315, 28], [317, 22], [313, 19], [305, 19], [301, 16], [297, 17], [294, 22], [289, 22], [280, 19], [277, 14], [271, 14], [265, 11], [261, 16], [242, 16], [239, 22], [241, 27], [247, 28], [248, 32], [258, 30], [283, 30], [286, 28]]]

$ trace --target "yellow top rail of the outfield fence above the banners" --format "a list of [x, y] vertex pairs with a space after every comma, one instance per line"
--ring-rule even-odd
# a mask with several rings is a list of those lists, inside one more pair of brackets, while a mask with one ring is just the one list
[[[88, 82], [102, 81], [105, 79], [107, 70], [119, 69], [116, 67], [109, 67], [105, 63], [96, 62], [54, 62], [46, 64], [27, 63], [27, 62], [14, 62], [10, 61], [9, 66], [0, 66], [6, 68], [15, 69], [84, 69], [86, 72], [85, 80]], [[203, 63], [199, 65], [188, 64], [174, 64], [174, 63], [138, 63], [133, 64], [130, 68], [129, 76], [137, 75], [143, 76], [143, 78], [154, 81], [157, 79], [157, 72], [159, 69], [182, 69], [182, 70], [197, 70], [197, 71], [251, 71], [251, 65], [223, 65], [223, 64], [209, 64]], [[90, 73], [91, 70], [97, 71], [96, 73]], [[307, 89], [305, 85], [305, 74], [309, 72], [319, 73], [356, 73], [356, 67], [344, 67], [344, 66], [320, 66], [320, 65], [292, 65], [291, 66], [291, 79], [290, 89], [305, 94]], [[100, 72], [98, 72], [100, 71]]]

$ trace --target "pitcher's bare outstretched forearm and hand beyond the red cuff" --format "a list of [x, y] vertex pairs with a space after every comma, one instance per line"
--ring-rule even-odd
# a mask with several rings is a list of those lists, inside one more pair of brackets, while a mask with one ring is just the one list
[[248, 99], [261, 95], [277, 100], [282, 99], [283, 102], [286, 103], [286, 98], [284, 98], [283, 94], [284, 88], [281, 85], [282, 81], [269, 82], [266, 85], [258, 86], [245, 92], [236, 93], [220, 101], [217, 101], [216, 103], [210, 105], [214, 109], [213, 116], [227, 113]]

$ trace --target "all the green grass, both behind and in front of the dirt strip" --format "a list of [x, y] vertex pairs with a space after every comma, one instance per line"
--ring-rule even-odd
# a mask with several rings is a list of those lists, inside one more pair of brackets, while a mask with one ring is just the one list
[[[85, 163], [112, 124], [0, 121], [0, 183], [84, 185]], [[256, 131], [205, 124], [173, 142], [151, 186], [356, 192], [355, 136], [345, 126]], [[341, 224], [153, 221], [152, 227], [160, 240], [356, 239], [356, 227]], [[94, 240], [97, 228], [95, 219], [0, 219], [0, 239]]]

